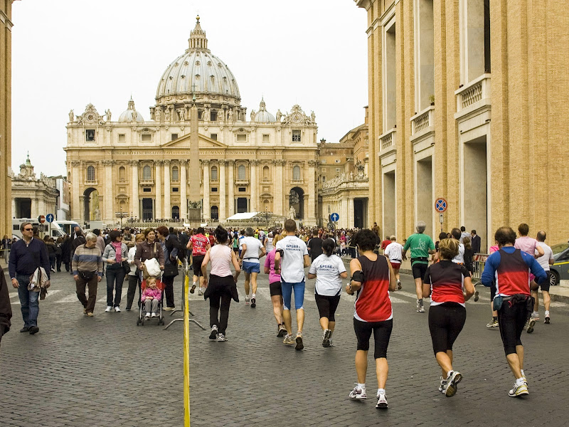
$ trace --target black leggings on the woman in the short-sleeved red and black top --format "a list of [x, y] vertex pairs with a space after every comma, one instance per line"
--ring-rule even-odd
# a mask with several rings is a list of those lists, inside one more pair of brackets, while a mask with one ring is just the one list
[[432, 339], [432, 351], [452, 351], [452, 344], [457, 339], [464, 322], [467, 320], [467, 309], [456, 302], [445, 302], [431, 305], [429, 309], [429, 330]]

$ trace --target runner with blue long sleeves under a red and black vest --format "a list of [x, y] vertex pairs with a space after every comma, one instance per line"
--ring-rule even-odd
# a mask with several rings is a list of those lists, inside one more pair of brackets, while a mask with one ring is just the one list
[[514, 230], [509, 227], [498, 228], [494, 238], [500, 249], [486, 260], [482, 285], [491, 286], [496, 278], [494, 308], [498, 310], [500, 335], [504, 343], [506, 360], [516, 378], [514, 388], [508, 395], [523, 396], [528, 394], [528, 381], [523, 372], [521, 332], [533, 309], [529, 274], [531, 271], [540, 284], [547, 280], [547, 275], [536, 258], [514, 248], [516, 243]]

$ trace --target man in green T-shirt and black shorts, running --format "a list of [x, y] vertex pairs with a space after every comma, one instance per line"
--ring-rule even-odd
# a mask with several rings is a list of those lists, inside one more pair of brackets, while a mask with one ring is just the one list
[[422, 281], [427, 272], [429, 265], [429, 254], [435, 253], [435, 243], [432, 243], [432, 238], [423, 234], [425, 231], [424, 221], [419, 221], [415, 230], [417, 233], [412, 234], [403, 246], [403, 259], [407, 259], [407, 251], [411, 249], [411, 270], [413, 270], [413, 278], [415, 278], [415, 292], [417, 292], [417, 312], [424, 313], [425, 307], [422, 304]]

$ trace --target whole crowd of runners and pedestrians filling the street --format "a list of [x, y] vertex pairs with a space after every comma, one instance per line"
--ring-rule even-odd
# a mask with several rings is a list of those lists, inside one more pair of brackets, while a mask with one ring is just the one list
[[[516, 383], [509, 396], [528, 394], [528, 382], [523, 371], [523, 345], [521, 333], [533, 330], [537, 311], [537, 289], [541, 286], [545, 297], [548, 291], [548, 265], [553, 261], [551, 248], [544, 241], [546, 233], [538, 238], [528, 237], [528, 226], [519, 226], [519, 237], [509, 227], [495, 233], [496, 246], [486, 260], [482, 284], [491, 288], [493, 321], [499, 327], [506, 360]], [[187, 260], [193, 269], [190, 292], [209, 300], [210, 339], [227, 340], [231, 301], [239, 302], [237, 290], [241, 271], [245, 275], [243, 289], [245, 305], [257, 304], [257, 275], [269, 275], [269, 288], [275, 317], [277, 337], [283, 343], [304, 349], [304, 292], [305, 268], [308, 279], [316, 279], [314, 300], [319, 312], [323, 347], [333, 345], [336, 328], [335, 312], [341, 292], [356, 295], [353, 330], [356, 334], [357, 384], [349, 394], [351, 399], [366, 399], [366, 371], [371, 334], [373, 358], [378, 381], [377, 408], [388, 408], [385, 384], [388, 378], [387, 349], [393, 330], [393, 310], [389, 292], [402, 288], [400, 266], [410, 253], [410, 264], [417, 294], [416, 311], [425, 312], [424, 299], [430, 298], [428, 325], [432, 349], [441, 369], [438, 389], [445, 396], [454, 396], [462, 374], [453, 367], [453, 344], [466, 321], [466, 302], [478, 297], [472, 283], [472, 258], [479, 252], [480, 238], [476, 231], [467, 233], [453, 228], [441, 233], [435, 243], [419, 221], [416, 233], [403, 244], [395, 236], [385, 236], [382, 242], [376, 225], [372, 229], [329, 231], [326, 228], [297, 229], [297, 223], [287, 220], [283, 228], [255, 230], [254, 228], [224, 229], [218, 226], [211, 231], [200, 227], [195, 231], [176, 231], [159, 226], [135, 230], [94, 230], [83, 235], [75, 228], [73, 236], [61, 242], [41, 241], [33, 236], [31, 223], [21, 225], [23, 239], [11, 246], [9, 273], [14, 288], [18, 288], [23, 328], [21, 332], [36, 334], [39, 330], [38, 287], [49, 288], [50, 273], [60, 269], [61, 263], [73, 274], [78, 300], [83, 313], [92, 317], [95, 310], [97, 283], [106, 277], [107, 307], [105, 312], [120, 312], [122, 285], [128, 278], [127, 307], [131, 310], [134, 295], [139, 289], [139, 305], [146, 317], [156, 317], [156, 310], [164, 297], [164, 310], [174, 310], [174, 277], [179, 265]], [[68, 249], [64, 249], [67, 245]], [[60, 251], [55, 248], [59, 247]], [[383, 251], [383, 253], [381, 253]], [[59, 255], [58, 255], [59, 254]], [[349, 271], [341, 256], [351, 258]], [[61, 262], [58, 262], [58, 256]], [[265, 258], [262, 261], [262, 258]], [[156, 273], [149, 274], [147, 260], [159, 265], [159, 277], [164, 292], [156, 288]], [[55, 263], [55, 264], [54, 264]], [[106, 268], [104, 268], [106, 266]], [[42, 270], [46, 280], [33, 285], [31, 276]], [[342, 280], [351, 276], [344, 287]], [[2, 275], [4, 278], [4, 275]], [[142, 280], [146, 287], [141, 290]], [[5, 288], [5, 286], [4, 286]], [[88, 289], [88, 298], [85, 294]], [[296, 331], [292, 328], [292, 295]], [[532, 296], [533, 295], [533, 296]], [[549, 298], [546, 320], [550, 321]], [[1, 317], [0, 317], [1, 319]], [[8, 318], [9, 320], [9, 318]], [[2, 332], [9, 322], [0, 322]], [[1, 335], [0, 335], [1, 337]]]

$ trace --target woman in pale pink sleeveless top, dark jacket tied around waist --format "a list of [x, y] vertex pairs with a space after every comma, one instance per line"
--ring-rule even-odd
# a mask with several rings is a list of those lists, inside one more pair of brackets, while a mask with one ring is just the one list
[[[229, 319], [229, 306], [231, 299], [239, 302], [237, 293], [237, 279], [241, 269], [237, 262], [235, 252], [231, 251], [227, 231], [218, 226], [215, 231], [216, 246], [208, 248], [206, 255], [201, 261], [202, 277], [207, 278], [208, 263], [211, 261], [209, 286], [203, 294], [203, 299], [209, 298], [209, 323], [211, 333], [209, 339], [218, 342], [227, 341], [225, 330]], [[235, 268], [235, 275], [231, 274], [231, 265]], [[194, 270], [195, 271], [195, 270]], [[218, 317], [219, 316], [219, 317]]]

